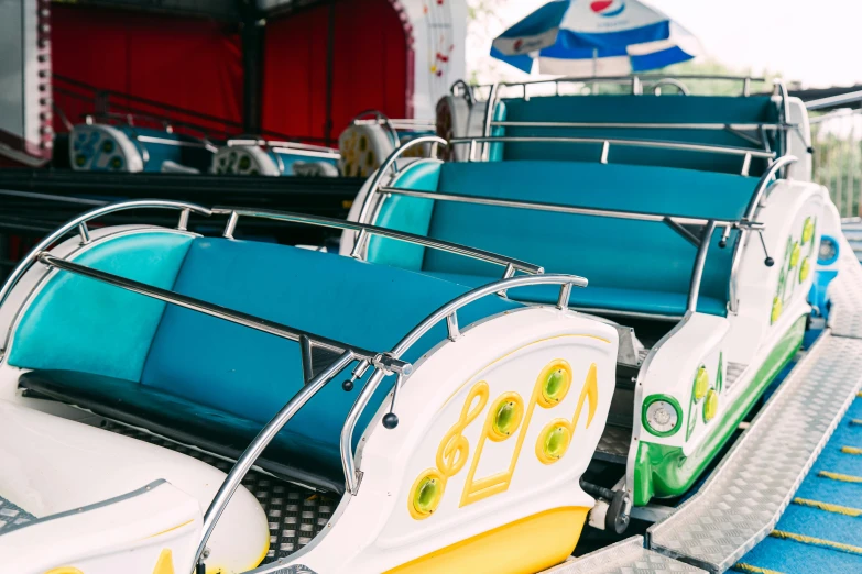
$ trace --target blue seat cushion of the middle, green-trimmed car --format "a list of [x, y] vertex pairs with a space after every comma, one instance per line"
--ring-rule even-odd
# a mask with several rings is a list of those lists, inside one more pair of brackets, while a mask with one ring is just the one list
[[[497, 278], [481, 275], [426, 273], [434, 277], [472, 288], [497, 280]], [[552, 285], [535, 285], [511, 289], [508, 296], [516, 301], [554, 305], [557, 302], [559, 288]], [[673, 317], [685, 314], [687, 303], [688, 297], [686, 294], [635, 288], [618, 289], [613, 287], [588, 286], [572, 289], [569, 297], [569, 305], [579, 309], [602, 309], [622, 313], [640, 312]], [[699, 297], [697, 310], [701, 313], [723, 316], [727, 312], [727, 303], [712, 297]]]

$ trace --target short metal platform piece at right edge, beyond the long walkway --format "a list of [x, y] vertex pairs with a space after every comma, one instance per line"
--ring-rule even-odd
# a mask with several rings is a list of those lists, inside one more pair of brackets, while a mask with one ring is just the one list
[[832, 334], [862, 339], [862, 265], [847, 241], [840, 246], [841, 268], [829, 284]]

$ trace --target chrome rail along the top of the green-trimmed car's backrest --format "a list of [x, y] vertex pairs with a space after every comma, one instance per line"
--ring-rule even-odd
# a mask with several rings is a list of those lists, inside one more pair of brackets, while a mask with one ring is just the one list
[[[608, 163], [608, 154], [610, 153], [611, 145], [634, 146], [634, 147], [650, 147], [658, 150], [675, 150], [680, 152], [702, 152], [722, 155], [735, 155], [743, 157], [742, 161], [742, 175], [749, 175], [749, 168], [751, 166], [751, 159], [775, 158], [775, 152], [766, 152], [762, 150], [751, 150], [748, 147], [733, 147], [729, 145], [708, 145], [708, 144], [695, 144], [688, 142], [664, 142], [658, 140], [620, 140], [610, 137], [554, 137], [554, 136], [482, 136], [482, 137], [454, 137], [449, 140], [451, 145], [470, 145], [470, 150], [473, 150], [477, 143], [571, 143], [571, 144], [600, 144], [601, 156], [599, 161], [602, 164]], [[485, 152], [488, 145], [485, 145]], [[487, 155], [487, 154], [485, 154]], [[484, 157], [484, 156], [483, 156]], [[471, 155], [472, 158], [472, 155]], [[487, 159], [487, 157], [485, 157]]]

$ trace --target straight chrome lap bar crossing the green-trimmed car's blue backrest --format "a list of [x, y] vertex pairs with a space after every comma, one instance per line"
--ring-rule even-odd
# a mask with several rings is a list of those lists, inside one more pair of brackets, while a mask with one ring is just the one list
[[413, 189], [402, 189], [397, 187], [381, 188], [382, 192], [395, 196], [417, 197], [423, 199], [434, 199], [439, 201], [455, 201], [461, 203], [477, 203], [483, 206], [510, 207], [533, 209], [536, 211], [553, 211], [555, 213], [569, 213], [578, 216], [596, 216], [613, 219], [633, 219], [639, 221], [656, 221], [667, 223], [667, 220], [679, 225], [706, 225], [712, 221], [717, 228], [740, 228], [746, 229], [760, 225], [744, 219], [712, 219], [712, 218], [692, 218], [689, 216], [676, 216], [673, 213], [647, 213], [643, 211], [628, 211], [623, 209], [587, 208], [579, 206], [567, 206], [564, 203], [546, 203], [542, 201], [528, 201], [522, 199], [500, 199], [482, 196], [466, 196], [462, 194], [444, 194], [436, 191], [417, 191]]

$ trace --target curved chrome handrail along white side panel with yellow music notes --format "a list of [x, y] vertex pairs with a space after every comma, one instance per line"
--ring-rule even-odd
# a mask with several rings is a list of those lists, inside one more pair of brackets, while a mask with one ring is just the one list
[[[556, 307], [558, 309], [567, 309], [571, 287], [586, 287], [587, 283], [588, 282], [586, 278], [579, 277], [577, 275], [523, 275], [519, 277], [501, 279], [499, 282], [478, 287], [456, 299], [452, 299], [426, 317], [395, 345], [390, 355], [393, 358], [400, 358], [411, 346], [413, 346], [414, 343], [416, 343], [416, 341], [418, 341], [425, 333], [427, 333], [432, 328], [434, 328], [444, 319], [447, 322], [449, 339], [452, 341], [456, 340], [458, 336], [460, 336], [457, 320], [458, 309], [488, 295], [505, 292], [509, 289], [525, 287], [528, 285], [559, 285], [560, 292]], [[362, 368], [361, 372], [364, 372], [364, 368]], [[368, 406], [369, 400], [371, 400], [371, 396], [377, 391], [380, 382], [385, 375], [386, 373], [382, 372], [380, 368], [375, 369], [375, 372], [369, 378], [368, 383], [364, 385], [364, 387], [362, 387], [362, 391], [359, 394], [359, 397], [357, 397], [357, 400], [353, 404], [353, 407], [350, 409], [347, 419], [345, 419], [345, 426], [341, 427], [341, 465], [345, 471], [347, 492], [352, 495], [357, 494], [360, 479], [353, 460], [353, 432], [356, 430], [357, 421], [359, 420], [360, 415], [362, 415], [362, 411]], [[390, 405], [390, 412], [393, 412], [395, 408], [397, 387], [401, 384], [402, 379], [400, 377], [395, 383], [392, 402]]]

